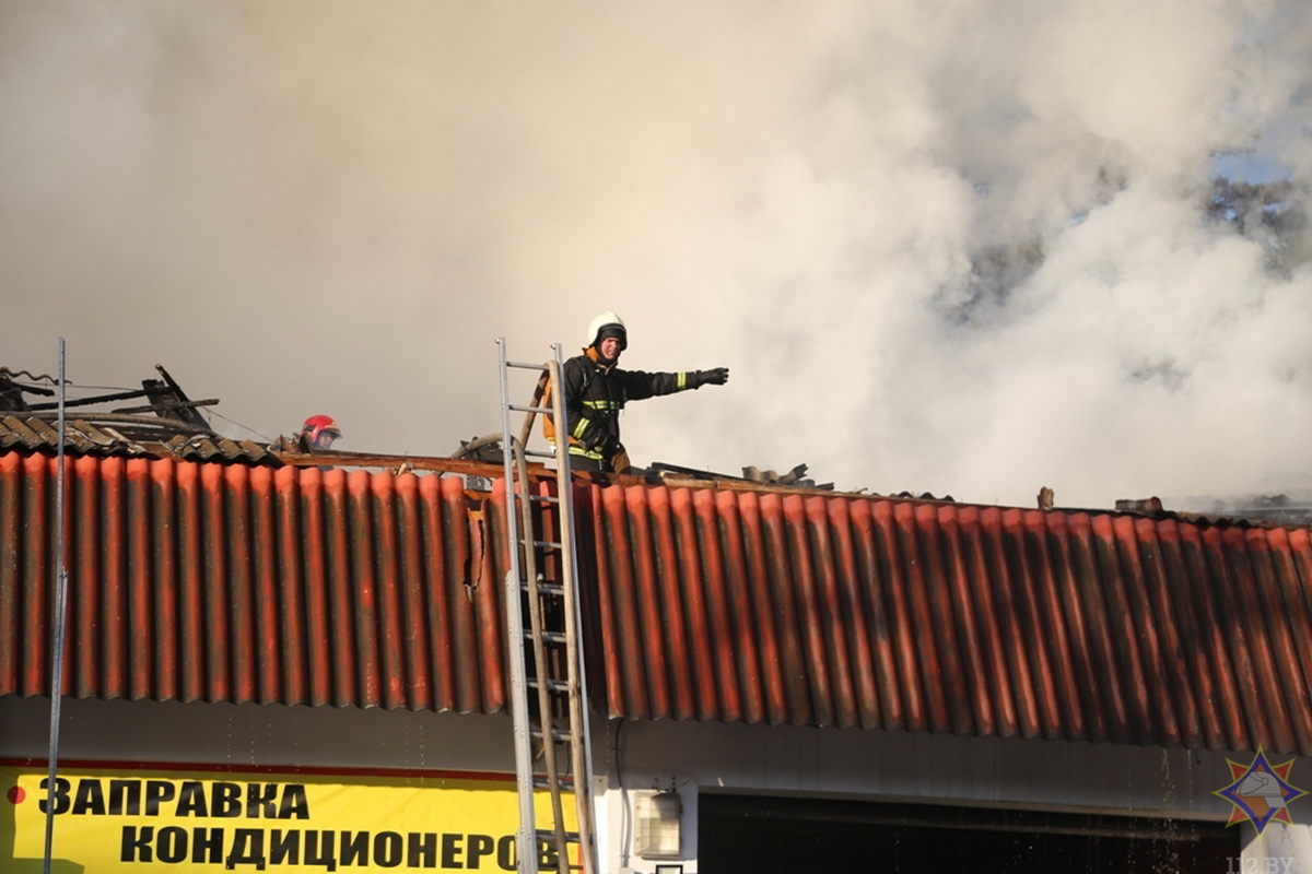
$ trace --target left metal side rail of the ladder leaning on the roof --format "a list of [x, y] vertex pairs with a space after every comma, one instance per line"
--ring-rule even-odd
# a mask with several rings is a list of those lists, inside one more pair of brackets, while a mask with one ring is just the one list
[[[497, 338], [501, 376], [501, 439], [510, 434], [510, 377], [505, 355], [505, 337]], [[510, 447], [502, 453], [505, 484], [505, 528], [509, 542], [510, 569], [505, 574], [506, 642], [510, 647], [510, 715], [514, 723], [514, 770], [520, 797], [520, 828], [516, 832], [516, 856], [520, 874], [538, 871], [538, 835], [533, 810], [533, 739], [529, 731], [529, 694], [523, 664], [523, 615], [520, 605], [522, 575], [520, 565], [520, 520], [514, 512], [514, 460]], [[531, 849], [530, 849], [531, 848]]]

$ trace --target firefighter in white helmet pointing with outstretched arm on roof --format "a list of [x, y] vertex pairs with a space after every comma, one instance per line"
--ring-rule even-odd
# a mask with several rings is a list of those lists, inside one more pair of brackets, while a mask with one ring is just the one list
[[[625, 320], [604, 312], [588, 325], [583, 355], [565, 362], [565, 419], [569, 425], [569, 464], [575, 470], [623, 472], [628, 453], [619, 442], [619, 413], [628, 401], [672, 394], [702, 385], [724, 385], [729, 368], [647, 373], [619, 370], [619, 355], [628, 347]], [[550, 392], [543, 405], [550, 405]], [[547, 439], [555, 443], [550, 417], [543, 419]]]

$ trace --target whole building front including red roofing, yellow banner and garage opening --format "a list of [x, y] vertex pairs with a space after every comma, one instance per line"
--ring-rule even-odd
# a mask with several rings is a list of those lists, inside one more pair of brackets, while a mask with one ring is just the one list
[[[62, 870], [505, 867], [483, 473], [70, 457]], [[56, 493], [49, 446], [0, 453], [14, 870]], [[1307, 528], [741, 482], [575, 507], [604, 871], [1312, 870]]]

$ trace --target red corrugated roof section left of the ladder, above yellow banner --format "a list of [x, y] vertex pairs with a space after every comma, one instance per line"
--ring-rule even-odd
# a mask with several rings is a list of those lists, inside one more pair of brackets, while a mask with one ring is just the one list
[[[68, 461], [70, 694], [504, 705], [501, 612], [455, 477]], [[49, 692], [56, 466], [0, 455], [0, 693]]]

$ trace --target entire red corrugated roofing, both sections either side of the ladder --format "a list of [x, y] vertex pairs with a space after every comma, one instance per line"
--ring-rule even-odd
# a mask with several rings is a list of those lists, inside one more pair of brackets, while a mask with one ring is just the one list
[[[500, 493], [68, 464], [71, 694], [504, 709]], [[49, 689], [54, 491], [52, 460], [0, 455], [0, 693]], [[1305, 528], [768, 487], [576, 506], [610, 717], [1312, 755]]]

